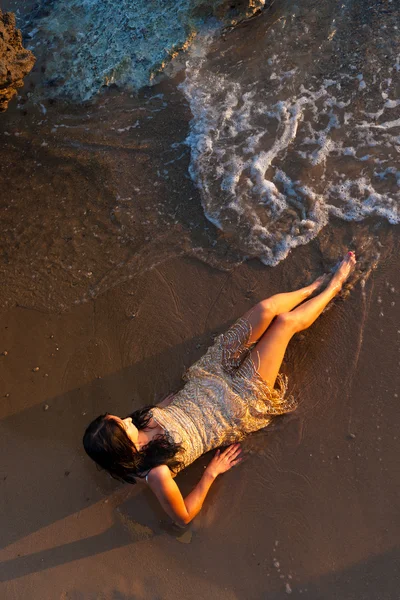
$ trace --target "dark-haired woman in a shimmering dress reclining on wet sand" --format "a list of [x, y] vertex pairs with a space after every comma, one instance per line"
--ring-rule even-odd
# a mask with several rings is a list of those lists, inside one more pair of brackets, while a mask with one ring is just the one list
[[[189, 523], [216, 477], [241, 462], [238, 442], [296, 407], [285, 398], [286, 381], [279, 374], [286, 347], [319, 317], [355, 262], [349, 252], [329, 283], [324, 275], [300, 290], [259, 302], [189, 368], [177, 394], [125, 419], [110, 414], [95, 419], [83, 437], [88, 455], [116, 479], [147, 482], [175, 523]], [[173, 477], [219, 446], [228, 447], [217, 450], [183, 498]]]

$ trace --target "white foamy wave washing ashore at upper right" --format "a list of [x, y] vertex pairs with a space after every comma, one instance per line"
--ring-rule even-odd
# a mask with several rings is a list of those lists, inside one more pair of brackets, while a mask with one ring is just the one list
[[249, 28], [191, 49], [191, 176], [208, 219], [266, 264], [331, 216], [399, 222], [399, 8], [361, 5], [288, 2], [247, 53]]

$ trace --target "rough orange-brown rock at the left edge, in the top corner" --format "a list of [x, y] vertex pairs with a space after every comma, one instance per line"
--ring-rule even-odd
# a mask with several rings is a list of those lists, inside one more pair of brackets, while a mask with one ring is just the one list
[[15, 15], [0, 10], [0, 112], [6, 110], [23, 79], [35, 64], [35, 57], [22, 45], [22, 35], [15, 27]]

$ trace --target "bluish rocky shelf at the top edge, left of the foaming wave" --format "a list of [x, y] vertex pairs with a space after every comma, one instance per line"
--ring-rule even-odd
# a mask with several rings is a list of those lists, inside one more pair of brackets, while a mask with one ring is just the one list
[[104, 86], [139, 90], [190, 46], [209, 19], [214, 28], [217, 21], [234, 26], [266, 3], [42, 0], [31, 11], [29, 24], [36, 52], [46, 56], [45, 76], [35, 94], [82, 102]]

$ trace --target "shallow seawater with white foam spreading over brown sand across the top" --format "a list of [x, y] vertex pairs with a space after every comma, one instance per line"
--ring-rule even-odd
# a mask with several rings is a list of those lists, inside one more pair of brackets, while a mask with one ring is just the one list
[[[113, 3], [81, 4], [86, 45], [69, 5], [20, 14], [38, 62], [2, 120], [3, 305], [65, 310], [177, 255], [273, 266], [317, 239], [324, 267], [350, 246], [365, 273], [390, 254], [398, 3], [286, 0], [235, 28], [197, 14], [197, 36], [158, 83], [132, 90], [157, 62], [149, 51], [152, 66], [131, 61], [129, 81], [101, 93], [97, 67], [122, 60], [133, 8], [118, 4], [112, 20]], [[160, 5], [175, 35], [171, 6]], [[186, 32], [193, 15], [179, 7]], [[114, 40], [104, 56], [93, 41], [101, 11]], [[157, 29], [156, 12], [148, 18]], [[159, 38], [145, 39], [156, 53]]]

